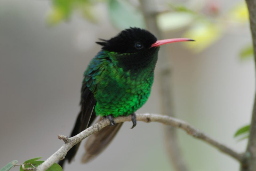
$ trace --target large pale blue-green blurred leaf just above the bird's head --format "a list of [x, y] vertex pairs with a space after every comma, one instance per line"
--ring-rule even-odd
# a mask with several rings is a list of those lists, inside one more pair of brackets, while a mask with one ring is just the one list
[[142, 13], [127, 1], [110, 0], [108, 8], [110, 20], [117, 28], [146, 27]]

